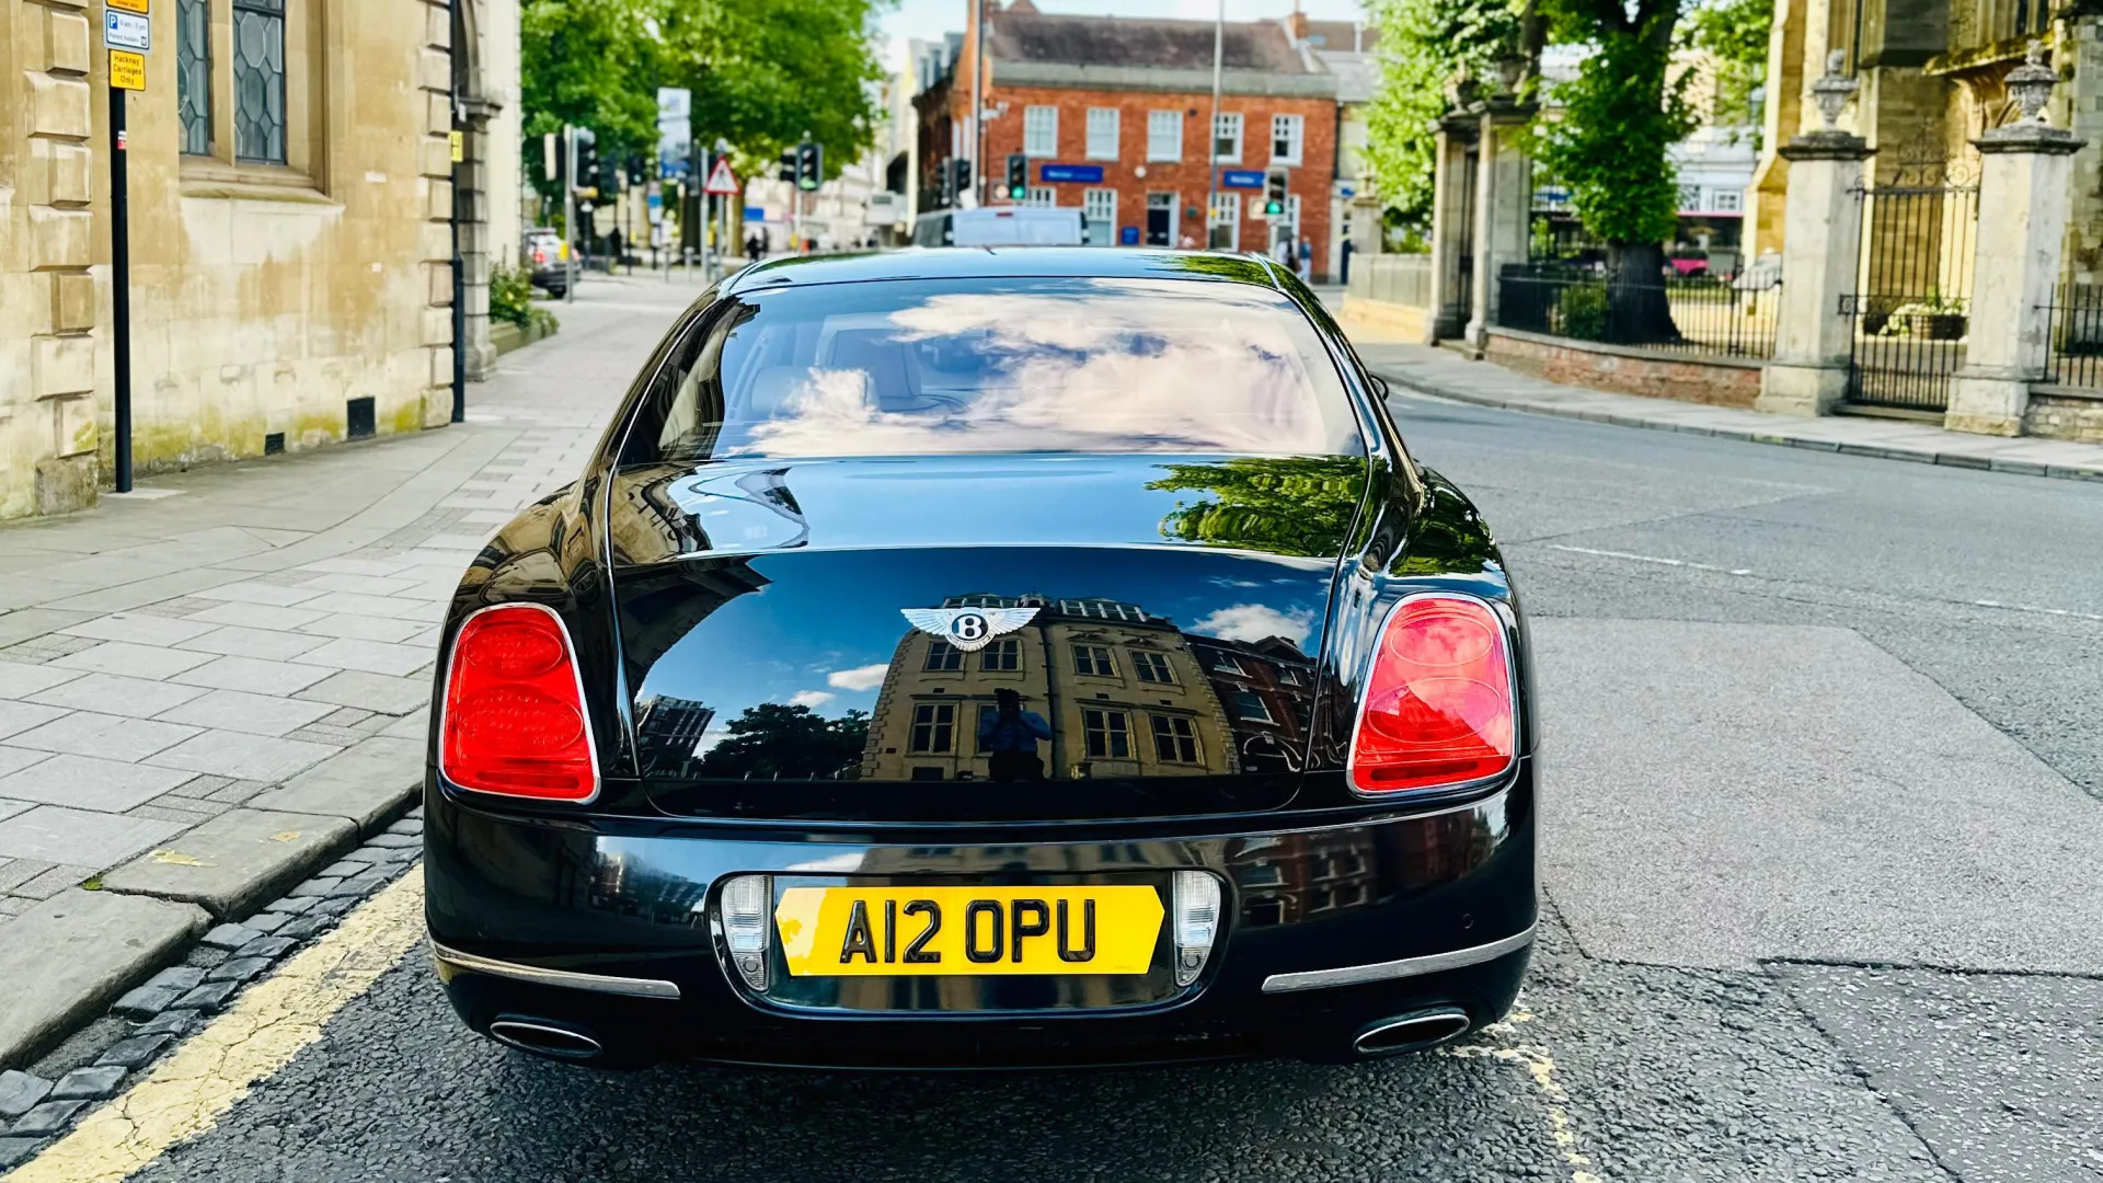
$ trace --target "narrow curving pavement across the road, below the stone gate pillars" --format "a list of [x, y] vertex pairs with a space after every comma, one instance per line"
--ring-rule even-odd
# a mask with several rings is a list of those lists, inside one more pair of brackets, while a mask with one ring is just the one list
[[2103, 444], [1966, 436], [1926, 423], [1855, 415], [1788, 419], [1756, 410], [1556, 385], [1493, 362], [1470, 362], [1451, 349], [1432, 349], [1428, 345], [1365, 341], [1356, 343], [1356, 349], [1373, 373], [1396, 387], [1455, 402], [1560, 415], [1567, 419], [1592, 419], [1621, 427], [1655, 427], [1750, 440], [1756, 444], [1788, 444], [1857, 457], [1979, 467], [2025, 476], [2103, 480]]

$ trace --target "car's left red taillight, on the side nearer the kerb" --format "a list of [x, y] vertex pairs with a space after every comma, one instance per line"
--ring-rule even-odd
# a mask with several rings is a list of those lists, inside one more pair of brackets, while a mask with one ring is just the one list
[[463, 789], [580, 802], [599, 789], [576, 655], [555, 613], [475, 613], [452, 642], [440, 770]]

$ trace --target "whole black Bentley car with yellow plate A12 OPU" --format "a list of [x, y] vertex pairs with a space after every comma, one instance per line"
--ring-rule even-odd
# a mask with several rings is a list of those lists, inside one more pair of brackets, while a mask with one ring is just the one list
[[1266, 259], [747, 269], [444, 638], [431, 941], [517, 1048], [1344, 1061], [1531, 954], [1518, 600]]

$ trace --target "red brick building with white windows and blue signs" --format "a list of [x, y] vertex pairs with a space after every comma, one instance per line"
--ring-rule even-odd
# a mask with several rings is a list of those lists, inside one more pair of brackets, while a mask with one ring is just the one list
[[[1335, 179], [1335, 76], [1281, 21], [1228, 23], [1218, 168], [1205, 217], [1211, 21], [1064, 17], [1030, 0], [986, 15], [984, 162], [955, 204], [1009, 202], [1007, 158], [1026, 158], [1028, 204], [1085, 210], [1091, 242], [1268, 250], [1306, 238], [1327, 280]], [[976, 13], [969, 15], [976, 21]], [[953, 69], [919, 99], [921, 177], [974, 156], [967, 25]], [[1264, 219], [1264, 175], [1287, 173], [1287, 213]], [[938, 194], [923, 194], [934, 208]]]

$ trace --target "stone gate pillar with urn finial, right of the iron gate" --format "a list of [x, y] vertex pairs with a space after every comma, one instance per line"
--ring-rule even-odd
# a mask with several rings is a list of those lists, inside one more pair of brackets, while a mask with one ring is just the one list
[[[2044, 379], [2053, 288], [2067, 236], [2069, 175], [2082, 141], [2042, 118], [2053, 72], [2044, 46], [2029, 42], [2029, 63], [2008, 74], [2025, 118], [1973, 143], [1979, 173], [1979, 240], [1973, 263], [1964, 368], [1949, 387], [1943, 427], [1981, 436], [2021, 436], [2029, 383]], [[2025, 72], [2036, 72], [2025, 78]], [[2025, 95], [2025, 84], [2034, 86]], [[2034, 103], [2029, 99], [2036, 99]]]

